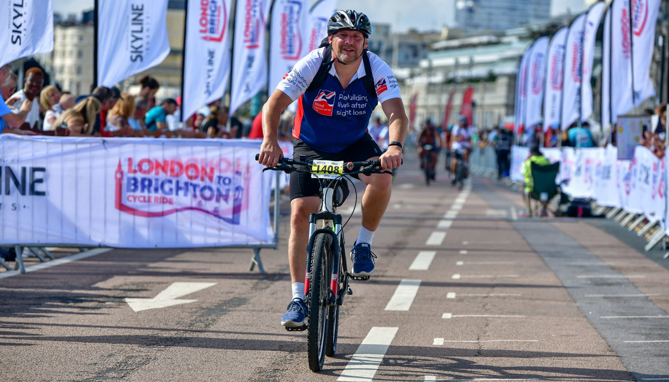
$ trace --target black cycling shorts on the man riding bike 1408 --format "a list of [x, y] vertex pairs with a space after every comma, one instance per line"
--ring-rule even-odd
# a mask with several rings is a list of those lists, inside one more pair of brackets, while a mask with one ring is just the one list
[[[383, 151], [374, 142], [369, 133], [365, 133], [358, 142], [345, 148], [341, 152], [322, 152], [308, 146], [308, 144], [293, 138], [293, 159], [299, 160], [300, 155], [306, 156], [306, 160], [344, 160], [346, 162], [362, 162], [370, 158], [381, 156]], [[358, 178], [358, 175], [353, 175]], [[358, 178], [359, 179], [359, 178]], [[303, 198], [304, 196], [319, 196], [320, 183], [318, 179], [312, 178], [308, 172], [290, 173], [290, 200]]]

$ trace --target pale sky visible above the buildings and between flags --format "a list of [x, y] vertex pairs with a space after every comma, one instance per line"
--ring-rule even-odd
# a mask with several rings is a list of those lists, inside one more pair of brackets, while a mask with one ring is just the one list
[[[535, 0], [547, 1], [547, 0]], [[53, 0], [54, 11], [62, 15], [77, 13], [93, 8], [93, 0]], [[372, 23], [390, 23], [393, 29], [403, 32], [409, 28], [417, 31], [440, 30], [442, 25], [454, 24], [456, 0], [413, 0], [407, 10], [407, 0], [339, 0], [341, 9], [355, 9], [365, 13]], [[571, 14], [585, 10], [584, 0], [553, 0], [552, 15]]]

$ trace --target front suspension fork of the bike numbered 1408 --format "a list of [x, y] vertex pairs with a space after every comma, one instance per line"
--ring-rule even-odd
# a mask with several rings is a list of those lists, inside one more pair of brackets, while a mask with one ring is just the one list
[[[334, 224], [333, 224], [334, 223]], [[309, 242], [306, 251], [306, 272], [304, 274], [304, 295], [309, 291], [311, 284], [311, 273], [313, 265], [313, 248], [316, 234], [319, 232], [326, 232], [332, 235], [332, 254], [330, 258], [330, 296], [328, 304], [334, 305], [339, 303], [341, 299], [338, 296], [339, 286], [339, 264], [345, 259], [341, 258], [341, 248], [343, 248], [343, 236], [341, 234], [341, 216], [323, 212], [320, 214], [309, 215]], [[325, 276], [325, 275], [323, 275]]]

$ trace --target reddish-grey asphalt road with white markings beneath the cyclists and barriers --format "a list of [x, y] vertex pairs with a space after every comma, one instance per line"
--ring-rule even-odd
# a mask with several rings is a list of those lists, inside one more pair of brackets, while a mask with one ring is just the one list
[[[319, 374], [308, 369], [306, 333], [280, 326], [286, 216], [280, 249], [261, 252], [266, 274], [248, 271], [246, 249], [98, 250], [42, 269], [29, 259], [31, 272], [0, 272], [0, 373], [26, 382], [669, 381], [662, 256], [647, 257], [610, 224], [518, 219], [521, 208], [516, 192], [486, 178], [459, 191], [442, 171], [425, 186], [407, 154], [374, 237], [375, 273], [353, 282], [338, 354]], [[357, 210], [349, 245], [359, 222]]]

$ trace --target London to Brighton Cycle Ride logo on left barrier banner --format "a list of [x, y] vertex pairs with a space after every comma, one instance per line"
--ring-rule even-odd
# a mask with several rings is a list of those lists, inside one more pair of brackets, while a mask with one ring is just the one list
[[248, 208], [248, 174], [248, 169], [227, 158], [209, 162], [127, 158], [118, 161], [114, 173], [114, 205], [145, 218], [193, 210], [240, 224]]

